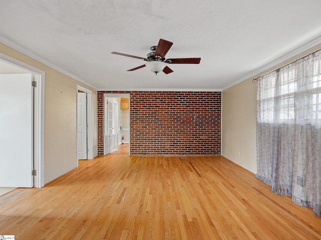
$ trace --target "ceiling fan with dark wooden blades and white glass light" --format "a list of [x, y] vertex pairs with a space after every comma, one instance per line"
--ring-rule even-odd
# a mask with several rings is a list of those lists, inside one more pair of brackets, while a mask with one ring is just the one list
[[138, 58], [141, 60], [146, 61], [145, 64], [141, 66], [137, 66], [135, 68], [129, 69], [127, 71], [133, 71], [137, 70], [139, 68], [147, 66], [152, 72], [155, 72], [157, 75], [157, 72], [163, 71], [166, 74], [169, 74], [173, 72], [173, 70], [167, 66], [168, 64], [176, 64], [176, 63], [181, 63], [181, 64], [199, 64], [201, 61], [201, 57], [191, 57], [191, 58], [168, 58], [165, 59], [166, 53], [169, 51], [171, 46], [173, 45], [173, 42], [165, 40], [165, 39], [159, 39], [158, 45], [157, 46], [152, 46], [150, 47], [151, 52], [147, 54], [147, 57], [140, 57], [140, 56], [133, 56], [125, 53], [120, 53], [113, 51], [111, 52], [112, 54], [117, 54], [121, 56], [129, 56], [133, 58]]

